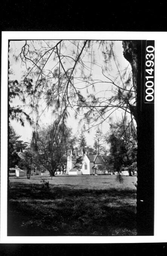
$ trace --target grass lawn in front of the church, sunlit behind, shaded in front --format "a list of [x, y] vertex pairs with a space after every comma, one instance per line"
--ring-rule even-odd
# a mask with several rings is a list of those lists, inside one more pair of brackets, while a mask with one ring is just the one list
[[123, 184], [115, 175], [9, 180], [8, 236], [136, 235], [136, 176]]

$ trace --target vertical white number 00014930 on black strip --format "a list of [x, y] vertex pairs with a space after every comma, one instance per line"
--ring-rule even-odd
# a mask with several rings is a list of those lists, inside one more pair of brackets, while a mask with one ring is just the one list
[[144, 102], [154, 103], [154, 41], [147, 41], [145, 63], [145, 90]]

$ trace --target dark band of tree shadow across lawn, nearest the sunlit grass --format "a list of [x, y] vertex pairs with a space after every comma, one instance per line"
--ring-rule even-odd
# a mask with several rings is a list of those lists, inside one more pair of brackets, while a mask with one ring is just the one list
[[[66, 187], [69, 186], [69, 187]], [[112, 195], [121, 197], [136, 198], [136, 189], [77, 189], [75, 185], [63, 184], [61, 187], [50, 184], [49, 189], [44, 188], [41, 184], [23, 184], [16, 183], [9, 189], [9, 200], [31, 198], [31, 199], [55, 199], [60, 197], [76, 197], [76, 196], [89, 196], [89, 195]]]

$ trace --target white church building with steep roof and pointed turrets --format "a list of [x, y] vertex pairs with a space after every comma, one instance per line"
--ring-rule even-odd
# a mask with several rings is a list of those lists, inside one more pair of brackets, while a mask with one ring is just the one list
[[74, 149], [68, 151], [67, 156], [67, 174], [68, 175], [103, 175], [106, 170], [100, 170], [99, 167], [104, 163], [101, 155], [88, 155], [84, 148], [75, 154]]

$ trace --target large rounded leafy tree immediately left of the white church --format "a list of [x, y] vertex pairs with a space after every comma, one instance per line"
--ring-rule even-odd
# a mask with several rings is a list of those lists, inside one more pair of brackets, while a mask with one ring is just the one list
[[32, 145], [37, 155], [38, 164], [43, 165], [51, 177], [57, 170], [64, 170], [67, 162], [67, 138], [70, 137], [70, 129], [65, 124], [57, 124], [43, 127], [34, 131]]

